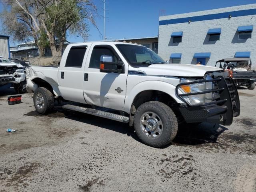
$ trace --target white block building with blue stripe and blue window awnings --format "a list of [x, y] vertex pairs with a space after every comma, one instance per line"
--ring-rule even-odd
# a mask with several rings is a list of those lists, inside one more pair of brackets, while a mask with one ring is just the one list
[[247, 57], [256, 67], [256, 4], [161, 16], [158, 54], [170, 63], [209, 66]]

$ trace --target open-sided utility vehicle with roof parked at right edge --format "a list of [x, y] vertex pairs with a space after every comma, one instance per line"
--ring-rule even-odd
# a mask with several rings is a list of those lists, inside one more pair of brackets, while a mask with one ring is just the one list
[[216, 62], [215, 67], [227, 70], [229, 76], [237, 86], [246, 86], [248, 89], [255, 88], [256, 71], [251, 70], [250, 58], [226, 58]]

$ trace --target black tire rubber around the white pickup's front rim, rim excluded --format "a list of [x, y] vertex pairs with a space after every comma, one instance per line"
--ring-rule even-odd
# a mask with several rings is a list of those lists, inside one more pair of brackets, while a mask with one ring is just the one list
[[[146, 136], [140, 125], [140, 118], [145, 112], [154, 112], [162, 120], [162, 134], [157, 138]], [[150, 101], [140, 105], [134, 114], [134, 129], [142, 142], [148, 146], [164, 147], [174, 139], [178, 131], [178, 122], [174, 112], [166, 104], [158, 101]]]

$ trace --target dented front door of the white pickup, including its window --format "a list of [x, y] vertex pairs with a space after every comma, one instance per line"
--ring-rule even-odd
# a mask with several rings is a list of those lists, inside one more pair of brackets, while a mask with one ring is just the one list
[[109, 45], [92, 45], [86, 60], [84, 99], [96, 106], [124, 110], [127, 70], [124, 74], [100, 72], [100, 56], [112, 56], [113, 62], [121, 61], [118, 50]]

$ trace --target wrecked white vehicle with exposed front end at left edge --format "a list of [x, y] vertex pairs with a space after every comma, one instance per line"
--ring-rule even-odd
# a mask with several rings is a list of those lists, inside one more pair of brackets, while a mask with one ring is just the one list
[[24, 66], [0, 56], [0, 90], [14, 87], [17, 93], [26, 92]]

